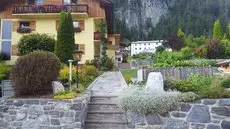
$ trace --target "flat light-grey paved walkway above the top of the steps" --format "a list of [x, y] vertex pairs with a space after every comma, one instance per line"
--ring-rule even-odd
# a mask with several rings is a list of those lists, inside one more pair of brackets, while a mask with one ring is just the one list
[[118, 96], [127, 87], [120, 72], [106, 72], [98, 78], [92, 87], [93, 95]]

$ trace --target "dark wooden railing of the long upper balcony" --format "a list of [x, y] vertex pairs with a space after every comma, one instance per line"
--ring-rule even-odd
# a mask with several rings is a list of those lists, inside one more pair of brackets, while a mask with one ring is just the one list
[[61, 11], [70, 13], [88, 13], [87, 4], [78, 5], [20, 5], [14, 6], [13, 14], [28, 13], [60, 13]]

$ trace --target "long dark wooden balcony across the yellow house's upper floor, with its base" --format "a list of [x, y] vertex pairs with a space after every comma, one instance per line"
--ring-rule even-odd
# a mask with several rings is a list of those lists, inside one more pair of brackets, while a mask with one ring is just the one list
[[18, 18], [58, 18], [61, 11], [70, 12], [73, 18], [88, 17], [89, 6], [78, 5], [20, 5], [14, 6], [13, 15]]

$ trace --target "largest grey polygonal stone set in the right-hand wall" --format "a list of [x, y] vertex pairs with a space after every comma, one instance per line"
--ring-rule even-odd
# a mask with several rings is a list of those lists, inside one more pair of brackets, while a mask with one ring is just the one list
[[194, 123], [209, 123], [210, 119], [209, 108], [203, 105], [194, 105], [187, 116], [187, 121]]

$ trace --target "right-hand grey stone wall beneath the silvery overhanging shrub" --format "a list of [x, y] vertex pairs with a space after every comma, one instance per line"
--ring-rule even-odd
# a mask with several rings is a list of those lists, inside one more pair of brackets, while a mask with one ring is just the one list
[[230, 99], [186, 103], [167, 117], [127, 113], [130, 127], [136, 129], [230, 129]]

